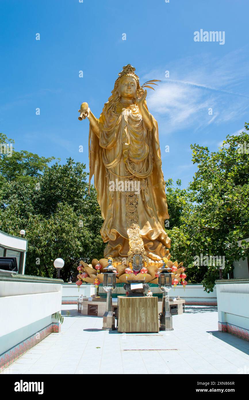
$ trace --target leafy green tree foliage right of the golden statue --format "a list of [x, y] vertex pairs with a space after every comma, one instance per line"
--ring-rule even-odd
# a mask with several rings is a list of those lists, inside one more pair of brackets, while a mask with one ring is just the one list
[[249, 237], [249, 154], [241, 152], [244, 142], [249, 143], [247, 132], [228, 135], [217, 152], [191, 145], [193, 163], [198, 164], [187, 190], [191, 201], [184, 205], [180, 226], [169, 231], [173, 257], [188, 265], [189, 282], [202, 278], [207, 291], [219, 278], [219, 266], [195, 266], [195, 256], [225, 256], [226, 277], [233, 261], [249, 255], [246, 242], [237, 244]]

